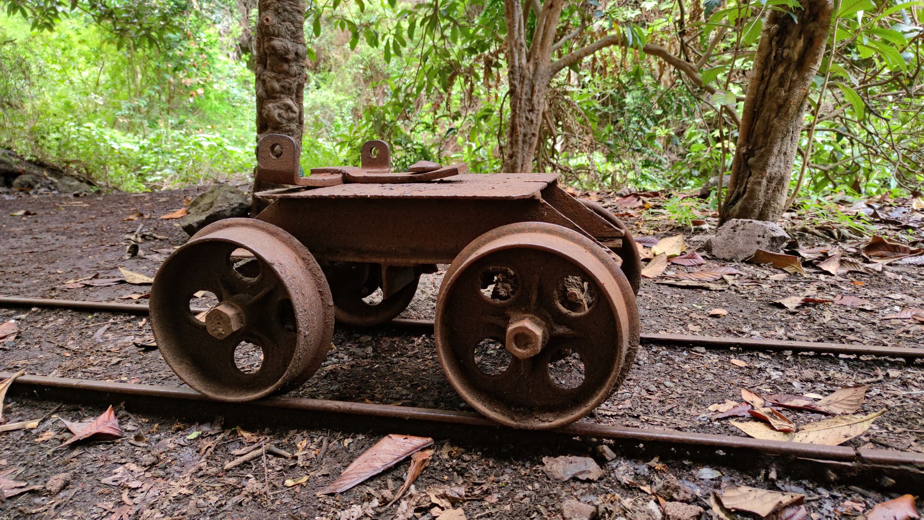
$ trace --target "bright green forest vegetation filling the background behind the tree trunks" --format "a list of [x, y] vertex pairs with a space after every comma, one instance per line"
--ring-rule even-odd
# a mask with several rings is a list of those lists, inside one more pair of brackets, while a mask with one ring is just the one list
[[[128, 190], [248, 177], [251, 3], [3, 0], [0, 146]], [[920, 189], [922, 5], [834, 2], [794, 196]], [[551, 79], [535, 169], [584, 189], [683, 189], [728, 172], [761, 20], [797, 6], [569, 4], [556, 53], [618, 40]], [[306, 171], [358, 163], [366, 139], [391, 142], [396, 167], [428, 159], [501, 170], [511, 110], [503, 1], [321, 0], [305, 21]], [[536, 24], [529, 18], [528, 29]]]

